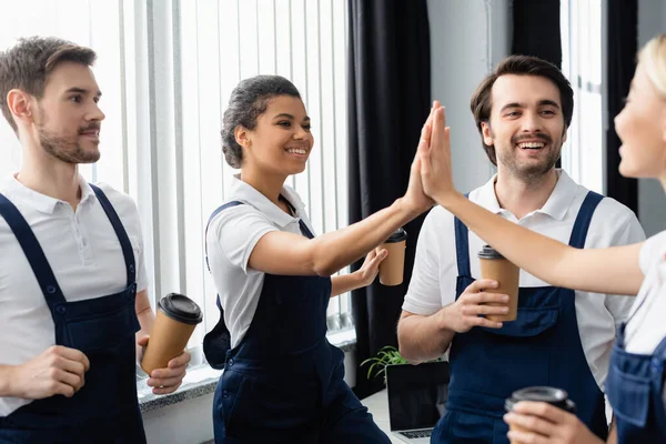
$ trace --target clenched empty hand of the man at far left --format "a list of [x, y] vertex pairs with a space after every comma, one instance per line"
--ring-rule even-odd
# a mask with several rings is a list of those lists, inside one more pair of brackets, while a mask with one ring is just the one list
[[23, 400], [42, 400], [53, 395], [72, 397], [85, 383], [90, 361], [78, 350], [53, 345], [10, 374], [10, 393]]

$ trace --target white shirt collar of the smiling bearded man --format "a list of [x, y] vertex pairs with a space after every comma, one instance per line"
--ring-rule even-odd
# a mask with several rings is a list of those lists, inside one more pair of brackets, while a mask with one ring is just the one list
[[[576, 196], [577, 185], [564, 170], [558, 169], [557, 174], [558, 178], [555, 189], [548, 196], [544, 206], [536, 210], [535, 213], [547, 214], [553, 219], [562, 221]], [[501, 208], [500, 202], [497, 202], [497, 194], [495, 194], [496, 179], [497, 174], [493, 175], [493, 178], [478, 190], [478, 204], [495, 214], [500, 214], [506, 212], [506, 210]]]

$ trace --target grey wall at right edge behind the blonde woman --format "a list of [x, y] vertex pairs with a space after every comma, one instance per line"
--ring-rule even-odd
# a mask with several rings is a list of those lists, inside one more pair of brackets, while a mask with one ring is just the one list
[[[666, 2], [638, 0], [638, 47], [662, 32], [666, 32]], [[647, 235], [666, 230], [665, 203], [664, 189], [658, 181], [638, 181], [638, 219]]]

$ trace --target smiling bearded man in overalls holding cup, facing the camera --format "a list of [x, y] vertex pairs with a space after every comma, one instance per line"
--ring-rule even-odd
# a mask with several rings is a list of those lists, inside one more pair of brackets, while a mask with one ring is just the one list
[[[574, 98], [553, 64], [513, 56], [474, 92], [483, 148], [497, 174], [470, 200], [525, 228], [577, 248], [644, 239], [635, 214], [556, 169]], [[532, 385], [564, 389], [598, 436], [608, 433], [603, 383], [616, 326], [632, 299], [551, 287], [521, 272], [518, 317], [504, 324], [494, 282], [478, 279], [483, 241], [443, 208], [430, 212], [398, 323], [400, 351], [412, 363], [450, 350], [446, 414], [433, 443], [508, 443], [504, 401]]]

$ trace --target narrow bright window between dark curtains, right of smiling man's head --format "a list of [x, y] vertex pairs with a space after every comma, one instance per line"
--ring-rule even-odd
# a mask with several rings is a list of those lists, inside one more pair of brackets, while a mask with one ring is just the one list
[[605, 107], [602, 89], [602, 2], [561, 2], [562, 71], [574, 89], [574, 115], [562, 164], [589, 190], [605, 189]]

